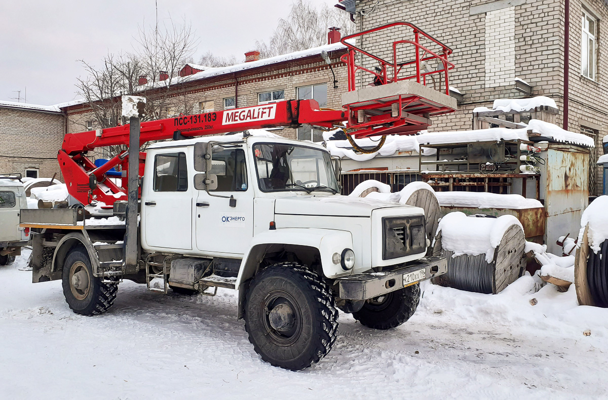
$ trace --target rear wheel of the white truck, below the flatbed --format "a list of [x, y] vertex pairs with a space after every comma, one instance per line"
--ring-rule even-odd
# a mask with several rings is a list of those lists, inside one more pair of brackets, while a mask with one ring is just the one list
[[[74, 275], [78, 275], [76, 281], [72, 279]], [[66, 303], [76, 314], [103, 314], [116, 300], [118, 283], [103, 283], [101, 278], [93, 276], [91, 260], [84, 247], [67, 253], [61, 278]]]

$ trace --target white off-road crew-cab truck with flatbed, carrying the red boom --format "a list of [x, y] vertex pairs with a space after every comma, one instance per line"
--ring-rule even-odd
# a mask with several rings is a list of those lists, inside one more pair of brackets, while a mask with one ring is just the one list
[[422, 209], [340, 195], [314, 143], [236, 134], [148, 147], [135, 266], [124, 262], [125, 205], [23, 213], [36, 232], [33, 281], [62, 279], [84, 315], [108, 311], [122, 279], [165, 293], [236, 289], [255, 351], [291, 370], [330, 351], [337, 308], [394, 328], [415, 311], [418, 283], [446, 272], [444, 258], [424, 258]]

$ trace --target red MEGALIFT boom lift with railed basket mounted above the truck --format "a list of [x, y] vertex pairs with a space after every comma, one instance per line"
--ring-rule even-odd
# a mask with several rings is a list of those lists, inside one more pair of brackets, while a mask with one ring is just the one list
[[[375, 33], [380, 30], [396, 26], [405, 26], [412, 29], [414, 40], [396, 40], [392, 43], [392, 62], [386, 61], [376, 55], [360, 49], [346, 40], [358, 36]], [[420, 44], [420, 39], [426, 38], [431, 43], [440, 47], [440, 50], [432, 51]], [[342, 57], [347, 63], [348, 69], [348, 91], [355, 91], [355, 75], [358, 71], [367, 72], [380, 80], [381, 84], [389, 84], [401, 80], [416, 79], [416, 82], [426, 85], [426, 78], [431, 74], [443, 74], [445, 93], [449, 95], [447, 71], [454, 68], [454, 64], [447, 60], [452, 49], [438, 40], [432, 38], [420, 28], [409, 22], [393, 22], [385, 26], [369, 29], [364, 32], [345, 36], [342, 43], [348, 46], [348, 53]], [[397, 60], [398, 46], [411, 45], [415, 49], [413, 60], [399, 62]], [[381, 65], [381, 73], [356, 63], [356, 53], [361, 57], [371, 57]], [[443, 69], [438, 71], [421, 72], [421, 63], [437, 59]], [[399, 76], [406, 66], [415, 64], [416, 73], [406, 77]], [[392, 75], [389, 75], [387, 67], [392, 67]], [[395, 97], [395, 96], [392, 96]], [[399, 104], [399, 112], [395, 117], [391, 116], [391, 105]], [[274, 128], [290, 126], [297, 128], [302, 124], [319, 126], [322, 128], [334, 128], [345, 126], [347, 133], [353, 137], [367, 137], [387, 134], [413, 134], [428, 126], [427, 115], [437, 115], [444, 112], [452, 112], [453, 109], [445, 106], [437, 106], [437, 103], [425, 102], [420, 95], [397, 95], [396, 99], [373, 100], [372, 104], [365, 106], [344, 106], [347, 111], [320, 109], [315, 100], [286, 100], [273, 104], [237, 108], [223, 111], [206, 112], [192, 116], [179, 116], [164, 120], [142, 122], [140, 128], [140, 146], [152, 140], [183, 139], [184, 137], [207, 136], [227, 133], [232, 131], [243, 131], [245, 129]], [[356, 119], [359, 109], [366, 112], [366, 120], [359, 123]], [[112, 167], [119, 167], [125, 174], [128, 171], [127, 152], [112, 157], [102, 167], [95, 167], [93, 162], [86, 157], [88, 151], [99, 147], [128, 145], [129, 125], [106, 128], [101, 131], [88, 131], [82, 133], [66, 134], [63, 145], [58, 152], [57, 159], [60, 164], [63, 178], [67, 183], [67, 190], [82, 204], [103, 202], [105, 206], [111, 207], [117, 200], [126, 200], [127, 177], [123, 175], [121, 185], [107, 178], [106, 172]], [[139, 153], [139, 176], [143, 176], [145, 164], [145, 153]], [[95, 180], [92, 179], [95, 176]], [[94, 184], [94, 181], [97, 183]], [[92, 188], [91, 188], [92, 186]]]

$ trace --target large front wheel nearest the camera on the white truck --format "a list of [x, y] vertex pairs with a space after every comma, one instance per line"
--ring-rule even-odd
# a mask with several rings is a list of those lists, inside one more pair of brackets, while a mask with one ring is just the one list
[[[284, 319], [277, 320], [278, 314]], [[331, 288], [319, 274], [297, 263], [274, 264], [255, 275], [244, 318], [249, 342], [275, 367], [308, 368], [336, 341], [338, 311]]]

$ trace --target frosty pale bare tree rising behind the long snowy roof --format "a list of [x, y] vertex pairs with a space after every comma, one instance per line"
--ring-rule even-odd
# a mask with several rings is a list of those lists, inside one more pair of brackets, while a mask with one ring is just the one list
[[279, 19], [268, 43], [256, 41], [260, 58], [273, 57], [327, 43], [330, 27], [339, 27], [344, 35], [354, 32], [354, 24], [345, 13], [323, 4], [316, 9], [306, 0], [295, 0], [286, 19]]

